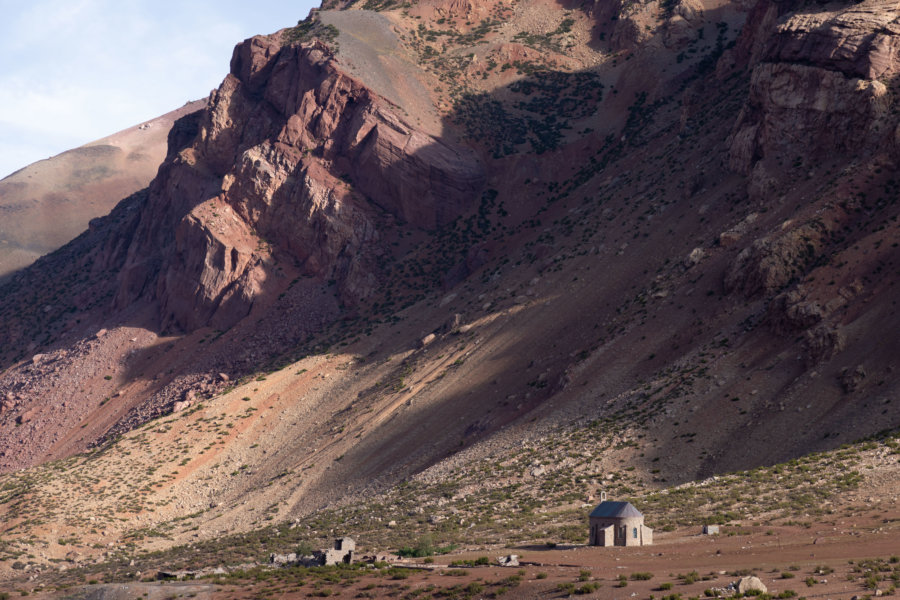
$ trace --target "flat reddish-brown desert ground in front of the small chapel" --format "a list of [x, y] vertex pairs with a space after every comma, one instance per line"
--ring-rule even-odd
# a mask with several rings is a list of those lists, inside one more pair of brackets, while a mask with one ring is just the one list
[[[750, 574], [779, 598], [849, 600], [895, 593], [900, 511], [850, 512], [853, 516], [803, 525], [725, 527], [712, 536], [701, 535], [699, 527], [680, 528], [660, 532], [645, 547], [495, 547], [439, 556], [433, 562], [395, 561], [377, 569], [283, 568], [188, 582], [73, 585], [65, 597], [689, 598], [730, 595], [729, 584]], [[480, 557], [494, 563], [507, 554], [517, 554], [521, 564], [452, 564]], [[152, 579], [154, 574], [148, 575]], [[58, 594], [38, 591], [34, 597]]]

